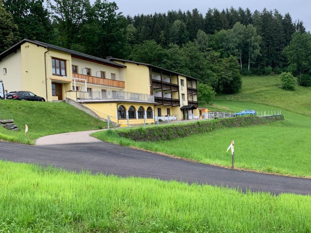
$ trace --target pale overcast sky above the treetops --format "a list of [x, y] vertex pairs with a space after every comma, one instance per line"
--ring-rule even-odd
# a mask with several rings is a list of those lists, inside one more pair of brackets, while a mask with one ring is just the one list
[[[111, 1], [111, 0], [110, 0]], [[182, 11], [197, 8], [203, 16], [208, 8], [217, 8], [220, 11], [223, 8], [233, 6], [254, 10], [262, 10], [266, 7], [268, 10], [278, 9], [282, 15], [290, 12], [295, 19], [302, 20], [307, 31], [311, 30], [311, 0], [114, 0], [123, 15], [153, 14], [154, 12], [167, 12], [168, 10]]]

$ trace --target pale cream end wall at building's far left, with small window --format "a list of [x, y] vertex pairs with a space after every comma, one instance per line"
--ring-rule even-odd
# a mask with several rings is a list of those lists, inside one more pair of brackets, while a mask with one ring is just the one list
[[[3, 81], [4, 89], [7, 92], [23, 90], [21, 67], [21, 49], [2, 58], [0, 62], [0, 79]], [[7, 68], [6, 75], [3, 75], [4, 68]]]

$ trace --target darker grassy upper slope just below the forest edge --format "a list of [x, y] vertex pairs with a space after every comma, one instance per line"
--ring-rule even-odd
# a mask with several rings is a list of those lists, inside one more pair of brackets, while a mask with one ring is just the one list
[[216, 100], [261, 103], [311, 117], [311, 87], [283, 90], [279, 75], [243, 77], [242, 80], [238, 94], [217, 95]]

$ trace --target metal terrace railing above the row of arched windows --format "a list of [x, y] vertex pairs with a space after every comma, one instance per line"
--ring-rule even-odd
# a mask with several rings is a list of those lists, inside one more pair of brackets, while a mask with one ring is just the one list
[[126, 91], [77, 91], [77, 100], [79, 101], [137, 101], [137, 102], [155, 102], [153, 95], [126, 92]]

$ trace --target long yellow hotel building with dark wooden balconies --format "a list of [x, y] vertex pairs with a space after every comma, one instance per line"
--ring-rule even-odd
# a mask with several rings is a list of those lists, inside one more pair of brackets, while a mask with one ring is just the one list
[[83, 105], [121, 125], [199, 118], [197, 79], [150, 64], [21, 40], [0, 54], [6, 92]]

